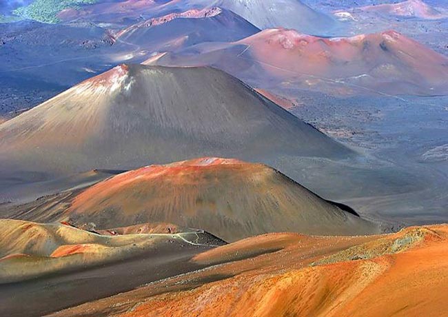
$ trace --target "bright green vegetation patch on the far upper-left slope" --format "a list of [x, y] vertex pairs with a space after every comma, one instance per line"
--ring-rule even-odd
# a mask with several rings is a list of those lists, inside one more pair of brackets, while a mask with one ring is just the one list
[[17, 17], [32, 19], [43, 23], [58, 23], [57, 14], [61, 10], [79, 9], [84, 4], [95, 3], [96, 0], [35, 0], [28, 6], [17, 8], [13, 13]]

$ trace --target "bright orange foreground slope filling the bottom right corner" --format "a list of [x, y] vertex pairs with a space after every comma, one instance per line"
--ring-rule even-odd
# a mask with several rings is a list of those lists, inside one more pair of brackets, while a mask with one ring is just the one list
[[[195, 256], [210, 269], [52, 316], [444, 316], [447, 238], [447, 225], [382, 236], [256, 236]], [[218, 274], [225, 277], [194, 283]]]

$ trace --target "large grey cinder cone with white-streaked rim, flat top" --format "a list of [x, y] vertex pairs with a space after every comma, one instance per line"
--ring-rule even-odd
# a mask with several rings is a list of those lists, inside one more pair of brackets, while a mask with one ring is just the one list
[[212, 68], [120, 65], [0, 125], [0, 167], [7, 170], [283, 154], [345, 158], [352, 151]]

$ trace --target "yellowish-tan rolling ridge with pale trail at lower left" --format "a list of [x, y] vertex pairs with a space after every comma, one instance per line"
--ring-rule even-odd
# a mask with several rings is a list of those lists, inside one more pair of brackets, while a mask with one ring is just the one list
[[180, 256], [185, 251], [192, 256], [200, 249], [225, 244], [202, 230], [161, 223], [108, 230], [101, 232], [103, 235], [68, 223], [0, 219], [0, 229], [0, 288], [6, 283], [43, 276], [51, 278], [55, 274], [88, 270], [97, 265], [131, 261], [136, 256], [158, 257], [159, 262], [169, 263], [170, 256], [175, 254]]

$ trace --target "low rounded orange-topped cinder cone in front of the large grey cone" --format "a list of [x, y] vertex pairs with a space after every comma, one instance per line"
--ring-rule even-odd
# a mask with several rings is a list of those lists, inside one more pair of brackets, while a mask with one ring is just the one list
[[[48, 214], [48, 221], [52, 214]], [[354, 235], [379, 229], [263, 164], [203, 158], [151, 165], [75, 196], [58, 220], [98, 228], [167, 222], [225, 241], [267, 232]], [[53, 218], [54, 220], [54, 218]]]

